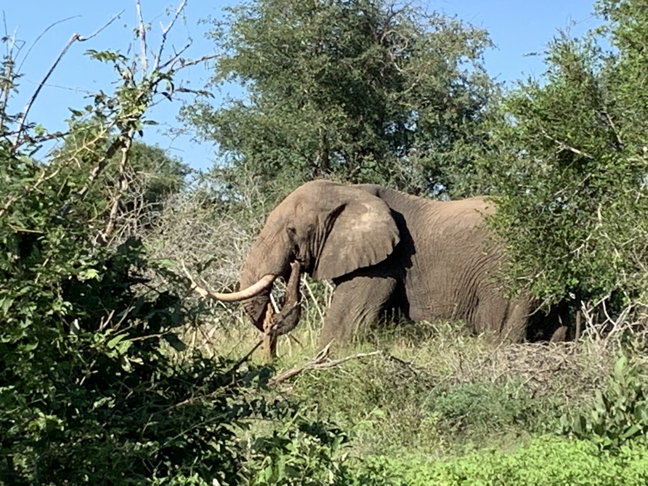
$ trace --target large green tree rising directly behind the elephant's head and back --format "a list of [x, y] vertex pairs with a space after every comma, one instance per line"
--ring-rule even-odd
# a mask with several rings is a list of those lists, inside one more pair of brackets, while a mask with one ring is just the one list
[[182, 113], [218, 143], [224, 180], [479, 189], [472, 161], [497, 91], [481, 62], [485, 30], [384, 0], [254, 0], [227, 11], [211, 32], [221, 53], [212, 84], [246, 93]]

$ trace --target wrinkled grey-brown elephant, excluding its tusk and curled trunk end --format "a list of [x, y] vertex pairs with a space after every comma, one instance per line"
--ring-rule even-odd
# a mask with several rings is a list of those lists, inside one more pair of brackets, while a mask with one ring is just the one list
[[[482, 217], [493, 213], [481, 197], [439, 202], [378, 185], [308, 182], [268, 216], [240, 286], [268, 273], [288, 279], [294, 259], [314, 279], [332, 279], [320, 345], [348, 340], [388, 308], [414, 321], [463, 319], [500, 341], [561, 336], [539, 313], [529, 318], [533, 302], [509, 301], [496, 286], [500, 254]], [[268, 294], [244, 303], [259, 329]]]

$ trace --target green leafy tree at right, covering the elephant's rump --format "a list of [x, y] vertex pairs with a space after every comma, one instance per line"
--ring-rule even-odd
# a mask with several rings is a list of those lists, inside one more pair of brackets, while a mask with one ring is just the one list
[[507, 275], [548, 301], [623, 304], [647, 288], [643, 5], [601, 1], [601, 29], [554, 38], [544, 78], [504, 98], [481, 160], [500, 194], [493, 225], [508, 244]]

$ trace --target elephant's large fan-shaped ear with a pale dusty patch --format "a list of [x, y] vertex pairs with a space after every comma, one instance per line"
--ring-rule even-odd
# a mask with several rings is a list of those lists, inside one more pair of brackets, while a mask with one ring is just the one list
[[340, 205], [327, 218], [331, 229], [313, 270], [316, 280], [375, 265], [386, 259], [400, 240], [388, 205], [368, 193]]

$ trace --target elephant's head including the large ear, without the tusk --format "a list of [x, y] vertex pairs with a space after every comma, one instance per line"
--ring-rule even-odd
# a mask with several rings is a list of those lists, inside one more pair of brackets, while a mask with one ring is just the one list
[[[399, 242], [388, 205], [364, 189], [312, 181], [289, 194], [268, 216], [249, 251], [240, 288], [288, 278], [297, 260], [316, 280], [335, 279], [386, 259]], [[272, 286], [244, 301], [262, 329]]]

